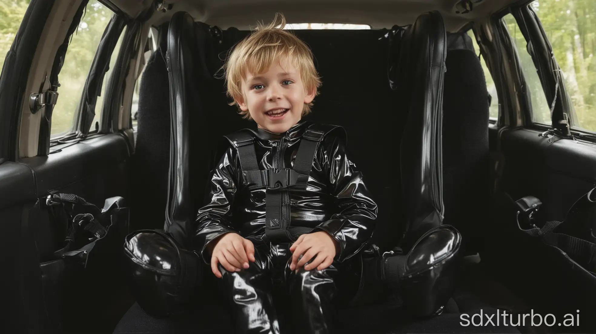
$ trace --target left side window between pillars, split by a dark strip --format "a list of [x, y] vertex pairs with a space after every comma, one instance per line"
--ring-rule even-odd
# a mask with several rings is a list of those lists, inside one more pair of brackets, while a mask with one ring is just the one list
[[[85, 8], [85, 12], [83, 12], [79, 27], [73, 33], [66, 51], [64, 66], [60, 74], [58, 74], [60, 88], [58, 88], [58, 101], [52, 112], [52, 129], [50, 132], [52, 138], [59, 137], [73, 130], [75, 113], [83, 93], [85, 80], [91, 69], [95, 51], [97, 51], [104, 30], [113, 14], [109, 8], [97, 0], [90, 0]], [[122, 33], [116, 48], [114, 48], [110, 61], [110, 70], [104, 77], [103, 88], [101, 90], [102, 95], [107, 78], [110, 76], [114, 61], [116, 61], [116, 54], [120, 48], [123, 35]], [[102, 103], [103, 99], [99, 96], [95, 105], [93, 124], [100, 119], [99, 114]], [[95, 125], [92, 125], [91, 129], [95, 129]]]

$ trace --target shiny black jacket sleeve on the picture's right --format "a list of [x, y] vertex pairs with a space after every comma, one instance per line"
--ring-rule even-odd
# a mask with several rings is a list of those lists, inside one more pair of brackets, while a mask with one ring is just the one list
[[328, 173], [331, 191], [336, 196], [338, 212], [319, 224], [339, 242], [335, 260], [342, 262], [357, 254], [373, 235], [377, 204], [364, 183], [362, 172], [350, 161], [346, 136], [333, 135], [322, 142], [323, 164]]

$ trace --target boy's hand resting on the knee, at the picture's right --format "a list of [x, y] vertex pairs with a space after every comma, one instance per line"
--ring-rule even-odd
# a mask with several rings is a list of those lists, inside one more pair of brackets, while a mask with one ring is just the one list
[[[339, 244], [336, 239], [333, 239], [325, 231], [303, 234], [290, 247], [290, 251], [293, 253], [290, 270], [300, 269], [300, 267], [308, 263], [315, 255], [315, 260], [307, 264], [304, 269], [311, 270], [316, 268], [317, 270], [323, 270], [333, 263], [338, 249]], [[299, 261], [298, 258], [302, 254], [304, 256]]]

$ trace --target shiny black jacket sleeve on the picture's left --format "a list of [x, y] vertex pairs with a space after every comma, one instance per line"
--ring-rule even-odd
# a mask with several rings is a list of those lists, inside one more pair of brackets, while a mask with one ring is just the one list
[[197, 213], [193, 244], [206, 264], [211, 263], [211, 255], [205, 251], [207, 245], [225, 233], [236, 232], [230, 221], [237, 192], [236, 158], [237, 154], [230, 146], [210, 174], [205, 202]]

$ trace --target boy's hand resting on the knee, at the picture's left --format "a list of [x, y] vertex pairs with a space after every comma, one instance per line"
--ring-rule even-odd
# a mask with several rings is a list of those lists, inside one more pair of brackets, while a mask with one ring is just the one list
[[228, 271], [240, 271], [249, 267], [249, 261], [254, 262], [254, 245], [242, 238], [238, 233], [230, 232], [214, 241], [211, 251], [211, 270], [216, 277], [221, 278], [218, 263]]

